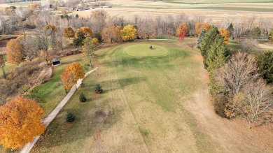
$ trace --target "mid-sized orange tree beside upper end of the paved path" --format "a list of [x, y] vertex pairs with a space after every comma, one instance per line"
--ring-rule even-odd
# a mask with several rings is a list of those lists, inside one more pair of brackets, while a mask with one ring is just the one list
[[80, 78], [83, 78], [85, 73], [83, 67], [79, 63], [74, 62], [65, 67], [64, 73], [61, 75], [61, 80], [64, 84], [65, 92], [66, 89], [71, 88]]

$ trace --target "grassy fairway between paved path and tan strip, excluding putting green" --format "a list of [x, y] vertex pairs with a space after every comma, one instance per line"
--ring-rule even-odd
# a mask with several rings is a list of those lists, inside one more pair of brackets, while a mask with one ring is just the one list
[[[169, 51], [162, 57], [131, 57], [126, 54], [131, 44], [99, 51], [99, 75], [84, 80], [33, 152], [95, 152], [98, 129], [105, 152], [211, 152], [215, 142], [183, 107], [188, 94], [200, 88], [196, 75], [202, 62], [192, 59], [196, 51], [176, 44], [161, 43]], [[95, 83], [105, 90], [97, 102], [106, 115], [95, 115]], [[78, 102], [80, 92], [87, 103]], [[76, 115], [73, 124], [64, 121], [67, 110]]]

